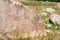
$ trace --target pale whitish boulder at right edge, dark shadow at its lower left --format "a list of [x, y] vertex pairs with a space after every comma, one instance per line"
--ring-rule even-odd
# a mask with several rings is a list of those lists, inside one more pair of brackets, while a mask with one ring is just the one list
[[50, 15], [50, 21], [54, 24], [54, 25], [60, 25], [60, 15], [57, 13], [52, 13]]

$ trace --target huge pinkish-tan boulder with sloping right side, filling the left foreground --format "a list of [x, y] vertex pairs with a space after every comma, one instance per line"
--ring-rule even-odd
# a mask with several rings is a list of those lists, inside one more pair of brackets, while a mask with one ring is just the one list
[[16, 38], [23, 34], [26, 36], [46, 34], [41, 18], [14, 0], [0, 1], [0, 33], [4, 38]]

